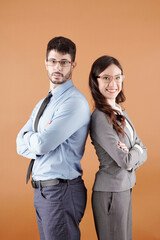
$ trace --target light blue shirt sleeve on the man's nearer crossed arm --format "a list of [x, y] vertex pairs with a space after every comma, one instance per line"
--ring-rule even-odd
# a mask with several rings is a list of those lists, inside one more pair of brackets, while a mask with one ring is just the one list
[[43, 155], [55, 150], [83, 125], [88, 124], [89, 114], [83, 101], [66, 101], [55, 113], [52, 123], [41, 132], [29, 131], [24, 142], [30, 152]]

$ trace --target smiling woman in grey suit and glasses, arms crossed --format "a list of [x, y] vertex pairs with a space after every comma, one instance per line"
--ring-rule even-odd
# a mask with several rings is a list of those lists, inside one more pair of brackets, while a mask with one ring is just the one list
[[92, 65], [89, 86], [95, 103], [90, 135], [100, 161], [92, 194], [99, 240], [132, 240], [131, 194], [135, 170], [147, 159], [147, 149], [120, 103], [123, 69], [110, 56]]

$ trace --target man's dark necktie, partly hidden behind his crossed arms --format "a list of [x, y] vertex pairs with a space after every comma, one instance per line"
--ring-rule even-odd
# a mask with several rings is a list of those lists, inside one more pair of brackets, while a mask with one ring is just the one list
[[[47, 104], [49, 103], [51, 97], [52, 97], [52, 93], [49, 93], [48, 96], [43, 100], [43, 102], [42, 102], [42, 104], [40, 106], [40, 109], [39, 109], [39, 111], [37, 113], [37, 116], [36, 116], [36, 119], [35, 119], [35, 123], [34, 123], [34, 130], [35, 130], [35, 132], [37, 132], [39, 119], [42, 116], [45, 108], [47, 107]], [[27, 176], [26, 176], [26, 183], [28, 183], [28, 181], [30, 179], [30, 175], [31, 175], [31, 172], [32, 172], [34, 161], [35, 161], [35, 159], [32, 159], [30, 161], [29, 166], [28, 166]]]

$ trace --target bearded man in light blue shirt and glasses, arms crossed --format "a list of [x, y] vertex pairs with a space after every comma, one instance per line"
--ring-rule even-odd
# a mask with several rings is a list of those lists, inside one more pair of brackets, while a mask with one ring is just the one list
[[[72, 83], [76, 46], [55, 37], [47, 46], [49, 103], [38, 119], [41, 100], [17, 136], [18, 154], [34, 159], [32, 186], [41, 240], [79, 240], [79, 223], [86, 207], [81, 179], [90, 110]], [[36, 121], [35, 121], [36, 120]]]

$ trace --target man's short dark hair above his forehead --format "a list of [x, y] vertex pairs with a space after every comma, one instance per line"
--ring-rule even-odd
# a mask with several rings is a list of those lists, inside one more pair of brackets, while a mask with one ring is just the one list
[[72, 62], [75, 61], [76, 45], [70, 39], [65, 37], [55, 37], [51, 39], [47, 45], [46, 59], [48, 59], [48, 54], [52, 49], [62, 54], [70, 54]]

